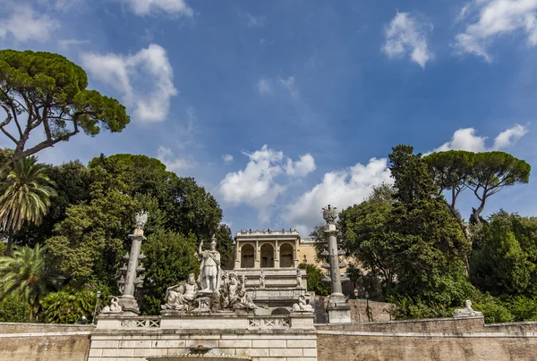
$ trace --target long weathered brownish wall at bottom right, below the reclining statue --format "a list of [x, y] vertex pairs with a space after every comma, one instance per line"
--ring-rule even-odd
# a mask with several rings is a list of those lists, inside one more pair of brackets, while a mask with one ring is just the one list
[[482, 317], [327, 324], [317, 331], [320, 361], [524, 361], [537, 355], [537, 323], [485, 325]]

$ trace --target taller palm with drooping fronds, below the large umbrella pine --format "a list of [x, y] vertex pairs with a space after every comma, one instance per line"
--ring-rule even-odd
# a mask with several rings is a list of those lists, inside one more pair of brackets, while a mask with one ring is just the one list
[[7, 256], [11, 255], [13, 233], [21, 231], [25, 223], [38, 225], [48, 212], [50, 197], [56, 196], [47, 165], [37, 161], [35, 156], [21, 158], [10, 165], [2, 183], [0, 227], [7, 234]]

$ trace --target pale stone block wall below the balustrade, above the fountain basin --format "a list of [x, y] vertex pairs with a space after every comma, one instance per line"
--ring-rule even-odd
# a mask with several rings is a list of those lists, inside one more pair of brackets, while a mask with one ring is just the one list
[[149, 356], [188, 354], [209, 347], [217, 355], [251, 357], [252, 361], [316, 361], [315, 331], [97, 330], [88, 361], [145, 361]]

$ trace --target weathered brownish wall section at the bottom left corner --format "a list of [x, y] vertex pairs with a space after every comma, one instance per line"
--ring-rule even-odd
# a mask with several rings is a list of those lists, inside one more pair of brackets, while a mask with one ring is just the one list
[[0, 360], [85, 361], [94, 326], [0, 323]]

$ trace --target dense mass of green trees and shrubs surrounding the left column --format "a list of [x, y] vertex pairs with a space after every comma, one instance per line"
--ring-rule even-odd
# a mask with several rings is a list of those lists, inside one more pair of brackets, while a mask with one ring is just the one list
[[[15, 164], [26, 161], [22, 158]], [[30, 161], [35, 164], [35, 160]], [[117, 270], [131, 246], [128, 234], [134, 228], [134, 214], [141, 209], [149, 212], [145, 227], [148, 240], [142, 245], [146, 255], [143, 312], [158, 313], [168, 286], [185, 279], [188, 273], [199, 273], [194, 255], [200, 239], [216, 234], [223, 264], [233, 262], [231, 230], [220, 224], [222, 210], [215, 198], [192, 178], [166, 172], [166, 166], [157, 159], [145, 155], [100, 155], [88, 167], [79, 162], [55, 167], [35, 165], [47, 180], [43, 187], [54, 185], [57, 194], [51, 191], [48, 213], [41, 215], [40, 224], [26, 222], [13, 233], [13, 243], [21, 251], [1, 261], [13, 264], [21, 258], [21, 252], [27, 255], [33, 250], [47, 257], [47, 264], [54, 265], [54, 269], [42, 270], [43, 276], [36, 276], [36, 280], [45, 280], [45, 274], [48, 277], [52, 273], [64, 278], [64, 289], [56, 290], [54, 282], [24, 281], [25, 274], [36, 271], [22, 271], [22, 266], [15, 265], [3, 268], [6, 296], [28, 293], [15, 290], [9, 286], [12, 283], [38, 290], [32, 291], [36, 297], [25, 296], [34, 320], [38, 314], [39, 320], [46, 322], [71, 323], [80, 320], [81, 315], [90, 319], [95, 297], [89, 296], [94, 295], [94, 290], [88, 291], [88, 284], [103, 291], [102, 300], [118, 293]], [[2, 184], [7, 189], [8, 181]], [[40, 266], [30, 259], [24, 262], [30, 262], [24, 267], [31, 270]], [[0, 302], [0, 312], [4, 304], [11, 307], [10, 299]]]

